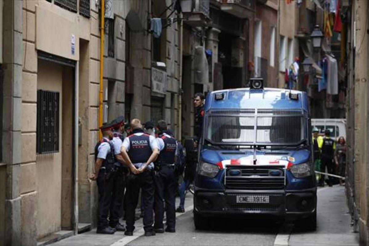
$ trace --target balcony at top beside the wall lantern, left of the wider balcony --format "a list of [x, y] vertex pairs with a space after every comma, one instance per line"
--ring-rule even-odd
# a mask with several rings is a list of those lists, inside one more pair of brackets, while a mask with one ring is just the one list
[[192, 27], [205, 27], [210, 24], [210, 0], [182, 0], [183, 22]]

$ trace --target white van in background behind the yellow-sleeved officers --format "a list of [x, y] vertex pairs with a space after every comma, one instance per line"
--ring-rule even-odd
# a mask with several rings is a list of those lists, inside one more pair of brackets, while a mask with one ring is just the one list
[[311, 119], [311, 127], [318, 128], [320, 135], [324, 135], [325, 129], [328, 129], [332, 138], [338, 140], [343, 136], [346, 139], [346, 119]]

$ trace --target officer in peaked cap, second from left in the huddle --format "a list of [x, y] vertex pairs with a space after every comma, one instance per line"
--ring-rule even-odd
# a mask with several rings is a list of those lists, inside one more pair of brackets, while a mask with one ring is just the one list
[[125, 231], [125, 227], [120, 224], [120, 209], [123, 201], [125, 189], [125, 173], [127, 172], [126, 164], [120, 154], [120, 147], [123, 143], [124, 136], [124, 116], [120, 116], [111, 122], [113, 130], [113, 139], [111, 143], [114, 146], [115, 172], [112, 176], [113, 190], [110, 205], [109, 225], [117, 231]]

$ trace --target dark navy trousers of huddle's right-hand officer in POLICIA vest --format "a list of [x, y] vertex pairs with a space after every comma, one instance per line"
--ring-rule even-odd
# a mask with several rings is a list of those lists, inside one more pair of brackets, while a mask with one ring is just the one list
[[164, 202], [166, 208], [166, 224], [168, 228], [175, 229], [176, 208], [175, 188], [176, 179], [174, 166], [162, 165], [155, 174], [155, 228], [164, 228]]

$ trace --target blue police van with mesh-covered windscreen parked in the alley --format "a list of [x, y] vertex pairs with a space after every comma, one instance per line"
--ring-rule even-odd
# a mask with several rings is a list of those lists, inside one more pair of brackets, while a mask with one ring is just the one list
[[307, 94], [263, 88], [208, 93], [194, 183], [194, 224], [209, 217], [276, 216], [316, 228]]

